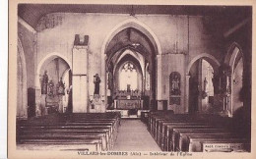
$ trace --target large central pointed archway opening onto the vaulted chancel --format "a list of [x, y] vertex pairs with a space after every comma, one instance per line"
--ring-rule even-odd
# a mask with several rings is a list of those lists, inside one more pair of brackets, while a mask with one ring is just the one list
[[[138, 25], [133, 24], [133, 26]], [[108, 42], [105, 49], [108, 108], [113, 108], [113, 101], [117, 97], [116, 94], [125, 87], [120, 87], [119, 78], [122, 70], [125, 70], [123, 67], [126, 66], [129, 66], [131, 71], [134, 70], [134, 75], [137, 77], [136, 85], [129, 86], [130, 88], [137, 87], [135, 94], [143, 100], [142, 108], [149, 109], [151, 103], [156, 101], [156, 57], [158, 49], [155, 41], [151, 41], [151, 38], [143, 30], [135, 27], [126, 27], [113, 35]]]

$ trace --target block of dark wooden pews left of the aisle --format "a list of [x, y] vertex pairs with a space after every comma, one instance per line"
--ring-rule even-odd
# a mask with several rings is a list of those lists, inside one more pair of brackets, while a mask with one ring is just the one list
[[[60, 149], [67, 149], [68, 147], [59, 145], [62, 142], [62, 144], [73, 144], [73, 147], [78, 144], [80, 149], [84, 145], [84, 148], [89, 150], [110, 150], [117, 136], [119, 115], [100, 114], [102, 116], [81, 114], [79, 116], [83, 119], [81, 121], [81, 118], [78, 118], [79, 122], [76, 122], [76, 119], [54, 124], [20, 122], [17, 129], [17, 143], [23, 148], [26, 147], [23, 146], [24, 144], [28, 146], [36, 144], [38, 149], [41, 148], [38, 145], [47, 145], [46, 147], [53, 149], [54, 146], [50, 145], [55, 145]], [[81, 143], [78, 143], [78, 140], [81, 140]]]

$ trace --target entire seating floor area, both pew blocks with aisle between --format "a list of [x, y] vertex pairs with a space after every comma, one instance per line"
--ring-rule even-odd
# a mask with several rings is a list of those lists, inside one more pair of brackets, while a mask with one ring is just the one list
[[[250, 151], [246, 127], [215, 115], [151, 112], [145, 121], [119, 113], [54, 114], [19, 121], [18, 149], [86, 151]], [[154, 140], [155, 139], [155, 140]]]

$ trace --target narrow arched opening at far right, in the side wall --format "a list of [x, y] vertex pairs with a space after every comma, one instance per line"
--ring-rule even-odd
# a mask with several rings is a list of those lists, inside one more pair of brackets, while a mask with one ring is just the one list
[[243, 82], [244, 82], [244, 61], [242, 50], [237, 43], [233, 43], [224, 59], [225, 65], [231, 69], [231, 93], [228, 103], [228, 110], [231, 114], [235, 114], [237, 110], [243, 107]]

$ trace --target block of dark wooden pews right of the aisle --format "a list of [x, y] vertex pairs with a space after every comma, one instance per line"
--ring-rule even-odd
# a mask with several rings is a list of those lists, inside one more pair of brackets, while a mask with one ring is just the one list
[[[216, 117], [211, 116], [210, 120], [206, 117], [208, 115], [190, 116], [186, 114], [174, 115], [154, 112], [149, 115], [149, 131], [164, 151], [203, 151], [203, 141], [211, 141], [212, 143], [215, 143], [215, 141], [218, 141], [218, 143], [222, 143], [222, 141], [224, 143], [228, 141], [233, 143], [236, 141], [235, 144], [240, 145], [240, 150], [244, 150], [248, 141], [241, 142], [239, 139], [242, 139], [242, 141], [244, 139], [241, 136], [230, 132], [228, 129], [224, 129], [224, 127], [217, 126], [215, 123], [211, 123], [210, 121]], [[189, 132], [181, 133], [179, 132], [180, 129], [186, 129]], [[182, 139], [180, 140], [179, 137], [180, 133], [182, 134], [181, 138], [189, 138], [190, 135], [195, 137], [194, 134], [197, 134], [199, 138], [204, 135], [207, 137], [203, 138], [200, 143], [195, 142], [193, 138], [192, 140], [185, 141], [183, 139], [182, 142]], [[225, 137], [220, 139], [219, 135], [224, 135]]]

